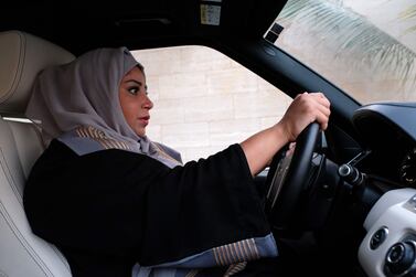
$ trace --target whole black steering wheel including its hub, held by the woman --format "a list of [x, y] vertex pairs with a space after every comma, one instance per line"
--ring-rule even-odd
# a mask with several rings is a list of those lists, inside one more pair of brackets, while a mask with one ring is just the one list
[[302, 192], [310, 182], [313, 150], [317, 147], [319, 125], [310, 124], [296, 140], [295, 152], [287, 157], [286, 148], [277, 152], [266, 179], [266, 212], [277, 231], [291, 231], [299, 222]]

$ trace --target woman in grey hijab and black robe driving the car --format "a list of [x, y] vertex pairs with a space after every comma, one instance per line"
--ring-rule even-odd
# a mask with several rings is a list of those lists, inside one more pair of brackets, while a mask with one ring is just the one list
[[308, 124], [327, 128], [328, 99], [299, 95], [271, 128], [184, 166], [146, 137], [152, 106], [126, 47], [40, 74], [26, 115], [51, 143], [24, 190], [33, 232], [74, 276], [223, 276], [277, 256], [253, 175]]

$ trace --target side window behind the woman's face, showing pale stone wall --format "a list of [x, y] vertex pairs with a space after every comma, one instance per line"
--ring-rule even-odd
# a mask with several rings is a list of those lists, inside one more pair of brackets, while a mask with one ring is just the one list
[[152, 140], [184, 161], [241, 142], [276, 124], [291, 98], [222, 53], [205, 46], [132, 51], [145, 66], [154, 104]]

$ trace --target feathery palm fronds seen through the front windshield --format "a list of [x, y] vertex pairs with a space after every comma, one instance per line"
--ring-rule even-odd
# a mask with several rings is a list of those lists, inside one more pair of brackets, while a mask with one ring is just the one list
[[[416, 4], [401, 13], [402, 19], [416, 17]], [[353, 66], [371, 66], [383, 74], [398, 75], [403, 85], [416, 84], [416, 53], [380, 30], [366, 18], [343, 6], [341, 0], [289, 0], [277, 22], [308, 25], [317, 45], [331, 45], [333, 57], [350, 57]], [[416, 26], [406, 32], [415, 31]], [[278, 44], [278, 42], [277, 42]], [[354, 57], [354, 58], [351, 58]]]

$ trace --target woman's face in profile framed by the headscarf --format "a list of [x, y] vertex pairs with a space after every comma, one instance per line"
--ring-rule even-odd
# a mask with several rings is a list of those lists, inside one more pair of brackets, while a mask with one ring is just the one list
[[127, 124], [138, 136], [145, 136], [153, 103], [148, 97], [146, 77], [140, 68], [135, 66], [121, 79], [119, 99]]

